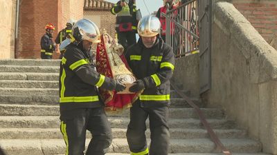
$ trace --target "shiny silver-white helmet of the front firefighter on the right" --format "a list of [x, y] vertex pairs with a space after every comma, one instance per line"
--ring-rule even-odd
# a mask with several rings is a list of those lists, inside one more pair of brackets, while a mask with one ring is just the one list
[[161, 31], [161, 22], [157, 17], [148, 15], [143, 17], [138, 24], [138, 33], [141, 37], [154, 37]]

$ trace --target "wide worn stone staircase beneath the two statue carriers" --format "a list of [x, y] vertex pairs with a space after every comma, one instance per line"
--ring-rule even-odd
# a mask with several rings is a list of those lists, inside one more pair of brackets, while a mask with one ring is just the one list
[[[0, 60], [0, 147], [7, 155], [64, 154], [58, 106], [58, 60]], [[171, 91], [170, 154], [215, 155], [197, 114]], [[199, 99], [193, 99], [200, 107]], [[222, 143], [235, 155], [266, 155], [259, 141], [247, 138], [220, 109], [202, 108]], [[125, 132], [128, 111], [108, 114], [114, 140], [108, 155], [129, 154]], [[150, 137], [149, 130], [147, 131]], [[87, 138], [91, 138], [87, 133]], [[89, 140], [89, 139], [88, 139]], [[87, 141], [88, 142], [88, 141]]]

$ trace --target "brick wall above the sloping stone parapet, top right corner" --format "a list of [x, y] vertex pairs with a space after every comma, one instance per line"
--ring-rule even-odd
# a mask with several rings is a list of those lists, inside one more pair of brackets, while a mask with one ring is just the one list
[[233, 0], [233, 5], [267, 42], [271, 41], [274, 33], [277, 33], [276, 0]]

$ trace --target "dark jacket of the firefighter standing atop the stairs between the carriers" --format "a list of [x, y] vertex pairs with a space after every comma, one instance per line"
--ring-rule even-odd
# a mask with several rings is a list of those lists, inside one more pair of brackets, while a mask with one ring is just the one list
[[136, 11], [136, 4], [131, 1], [124, 7], [121, 7], [120, 1], [118, 1], [111, 8], [111, 14], [116, 14], [117, 32], [137, 32], [138, 21], [136, 20]]

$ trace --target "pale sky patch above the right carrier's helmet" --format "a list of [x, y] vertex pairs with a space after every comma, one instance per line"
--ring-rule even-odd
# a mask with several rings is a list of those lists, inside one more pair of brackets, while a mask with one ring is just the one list
[[[117, 3], [119, 0], [105, 0], [105, 1]], [[136, 8], [141, 9], [142, 16], [149, 14], [143, 1], [145, 1], [145, 4], [146, 4], [150, 14], [154, 11], [157, 11], [161, 6], [163, 6], [163, 0], [136, 0]]]

